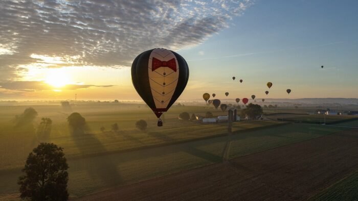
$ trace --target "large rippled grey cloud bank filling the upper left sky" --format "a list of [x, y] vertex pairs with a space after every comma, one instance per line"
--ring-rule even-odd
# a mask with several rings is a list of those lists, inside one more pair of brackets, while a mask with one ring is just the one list
[[[0, 1], [0, 81], [20, 65], [130, 66], [141, 52], [202, 43], [249, 0]], [[4, 71], [3, 71], [4, 70]]]

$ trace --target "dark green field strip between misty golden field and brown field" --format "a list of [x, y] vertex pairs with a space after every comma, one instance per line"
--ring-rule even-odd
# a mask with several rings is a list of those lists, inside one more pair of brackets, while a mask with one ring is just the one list
[[[239, 132], [230, 137], [229, 156], [232, 158], [249, 155], [342, 130], [344, 128], [328, 128], [322, 125], [285, 124], [263, 130]], [[226, 136], [215, 137], [127, 153], [69, 159], [69, 191], [72, 197], [78, 197], [116, 185], [218, 163], [222, 161], [227, 140]], [[0, 179], [5, 181], [0, 184], [0, 196], [4, 198], [17, 193], [16, 180], [19, 174], [19, 169], [0, 171]]]

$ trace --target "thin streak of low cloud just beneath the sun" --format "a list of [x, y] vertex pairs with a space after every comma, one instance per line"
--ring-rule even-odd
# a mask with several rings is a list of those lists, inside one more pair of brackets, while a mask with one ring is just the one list
[[[62, 90], [76, 90], [86, 89], [89, 87], [113, 87], [115, 85], [65, 85], [61, 87]], [[15, 82], [0, 82], [0, 89], [16, 90], [23, 92], [34, 92], [41, 90], [53, 90], [54, 87], [43, 81], [15, 81]]]

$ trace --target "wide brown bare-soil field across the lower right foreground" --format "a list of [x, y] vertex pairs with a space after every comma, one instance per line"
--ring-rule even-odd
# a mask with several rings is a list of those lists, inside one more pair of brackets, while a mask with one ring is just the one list
[[358, 131], [118, 187], [83, 200], [307, 199], [358, 169]]

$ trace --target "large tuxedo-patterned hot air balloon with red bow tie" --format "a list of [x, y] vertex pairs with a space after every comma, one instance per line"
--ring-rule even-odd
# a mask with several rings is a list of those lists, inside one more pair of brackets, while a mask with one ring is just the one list
[[132, 83], [143, 101], [158, 117], [182, 94], [189, 79], [185, 59], [169, 49], [155, 48], [138, 55], [131, 67]]

